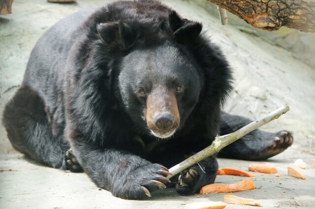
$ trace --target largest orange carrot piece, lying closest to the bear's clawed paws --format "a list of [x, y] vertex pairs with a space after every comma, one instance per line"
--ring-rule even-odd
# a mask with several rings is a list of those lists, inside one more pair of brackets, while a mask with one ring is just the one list
[[243, 190], [254, 189], [255, 185], [252, 179], [245, 179], [235, 183], [213, 183], [205, 185], [200, 189], [200, 194], [211, 192], [239, 192]]

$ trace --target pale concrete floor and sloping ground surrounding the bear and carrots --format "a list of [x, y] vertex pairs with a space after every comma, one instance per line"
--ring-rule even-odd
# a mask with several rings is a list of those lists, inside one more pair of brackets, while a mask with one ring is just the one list
[[[0, 113], [23, 79], [28, 57], [36, 40], [50, 26], [85, 7], [96, 7], [109, 0], [78, 0], [76, 4], [53, 4], [45, 0], [15, 0], [12, 14], [0, 16]], [[243, 33], [232, 25], [221, 26], [196, 3], [181, 0], [163, 1], [189, 18], [203, 23], [212, 40], [221, 46], [234, 69], [235, 91], [225, 109], [252, 119], [273, 111], [288, 102], [291, 111], [265, 130], [288, 129], [294, 132], [295, 144], [264, 163], [278, 168], [275, 174], [256, 174], [256, 189], [234, 195], [261, 201], [266, 209], [314, 209], [315, 167], [311, 164], [311, 142], [315, 139], [315, 70], [264, 39]], [[284, 128], [285, 127], [285, 128]], [[314, 143], [315, 144], [315, 143]], [[286, 167], [302, 158], [309, 169], [301, 172], [305, 180], [286, 175]], [[220, 167], [246, 170], [251, 162], [219, 159]], [[217, 182], [235, 182], [244, 177], [219, 176]], [[0, 208], [2, 209], [183, 209], [198, 201], [222, 201], [223, 194], [179, 196], [174, 189], [153, 193], [143, 201], [126, 201], [99, 190], [84, 174], [47, 168], [12, 149], [0, 125]], [[251, 206], [228, 205], [227, 209]]]

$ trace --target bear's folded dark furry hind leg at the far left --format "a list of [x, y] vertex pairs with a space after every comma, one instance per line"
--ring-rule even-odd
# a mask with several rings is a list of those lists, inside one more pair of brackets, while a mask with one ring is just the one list
[[53, 137], [44, 102], [37, 92], [28, 87], [17, 90], [4, 108], [3, 125], [15, 149], [41, 164], [63, 166], [68, 146]]

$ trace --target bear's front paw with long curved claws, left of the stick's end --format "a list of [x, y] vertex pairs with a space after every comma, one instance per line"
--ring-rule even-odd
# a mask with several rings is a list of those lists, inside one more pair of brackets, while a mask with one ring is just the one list
[[166, 188], [171, 182], [166, 176], [172, 175], [167, 168], [159, 164], [148, 164], [131, 171], [123, 182], [117, 182], [113, 195], [123, 199], [143, 199], [151, 197], [151, 192]]

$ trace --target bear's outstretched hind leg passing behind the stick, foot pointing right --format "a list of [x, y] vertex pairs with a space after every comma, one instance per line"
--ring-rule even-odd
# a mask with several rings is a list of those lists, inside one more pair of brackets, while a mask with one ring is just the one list
[[[232, 133], [252, 122], [240, 116], [223, 113], [221, 135]], [[289, 131], [270, 133], [254, 130], [236, 142], [221, 149], [218, 156], [242, 160], [263, 160], [283, 152], [293, 143]]]

